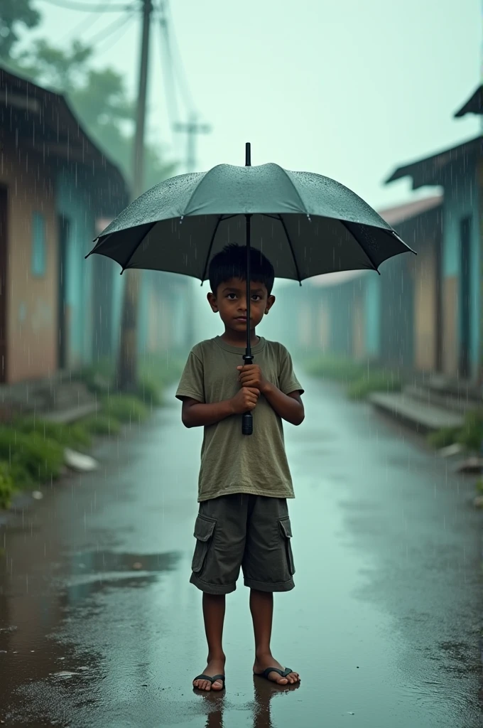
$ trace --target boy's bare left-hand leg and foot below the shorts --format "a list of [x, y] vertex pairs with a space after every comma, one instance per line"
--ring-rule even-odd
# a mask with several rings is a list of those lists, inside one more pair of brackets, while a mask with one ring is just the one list
[[[207, 668], [204, 675], [225, 674], [225, 653], [223, 652], [223, 622], [225, 620], [225, 595], [203, 594], [204, 632], [208, 643]], [[223, 683], [215, 680], [193, 680], [193, 686], [200, 690], [221, 690]]]

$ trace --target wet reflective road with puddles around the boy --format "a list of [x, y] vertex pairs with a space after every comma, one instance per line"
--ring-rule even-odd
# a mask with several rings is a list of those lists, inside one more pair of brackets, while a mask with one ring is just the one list
[[103, 443], [97, 473], [47, 488], [0, 529], [6, 725], [482, 725], [471, 480], [366, 405], [304, 384], [306, 421], [286, 427], [296, 587], [276, 595], [273, 635], [302, 685], [252, 677], [240, 579], [227, 597], [226, 692], [192, 692], [207, 652], [188, 583], [201, 430], [185, 430], [172, 400]]

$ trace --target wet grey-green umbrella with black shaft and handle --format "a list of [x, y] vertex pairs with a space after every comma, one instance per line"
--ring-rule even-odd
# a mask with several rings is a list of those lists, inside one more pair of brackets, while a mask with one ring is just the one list
[[[412, 252], [383, 218], [342, 184], [276, 164], [217, 165], [178, 175], [140, 195], [95, 239], [92, 253], [128, 268], [162, 270], [207, 280], [209, 261], [240, 237], [247, 244], [247, 348], [250, 344], [250, 248], [262, 250], [278, 278], [372, 269]], [[86, 258], [88, 257], [86, 256]], [[252, 432], [252, 414], [242, 419]]]

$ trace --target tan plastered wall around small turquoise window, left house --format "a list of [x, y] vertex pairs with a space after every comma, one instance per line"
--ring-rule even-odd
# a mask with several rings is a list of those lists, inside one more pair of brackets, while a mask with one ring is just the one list
[[[0, 183], [7, 186], [6, 380], [49, 376], [57, 365], [57, 218], [52, 179], [41, 158], [5, 132]], [[44, 220], [45, 272], [32, 273], [33, 213]]]

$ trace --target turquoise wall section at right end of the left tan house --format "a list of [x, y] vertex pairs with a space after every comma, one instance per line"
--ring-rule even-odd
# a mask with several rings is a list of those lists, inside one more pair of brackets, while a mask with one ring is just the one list
[[57, 175], [57, 214], [69, 221], [66, 251], [66, 298], [70, 309], [67, 344], [68, 366], [76, 368], [92, 360], [92, 266], [84, 256], [95, 237], [95, 214], [88, 196], [76, 184], [75, 175]]

